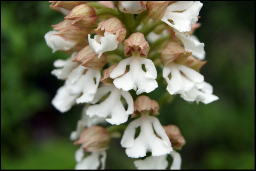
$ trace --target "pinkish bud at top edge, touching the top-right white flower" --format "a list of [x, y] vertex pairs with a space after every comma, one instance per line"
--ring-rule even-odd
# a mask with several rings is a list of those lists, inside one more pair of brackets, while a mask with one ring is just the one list
[[170, 1], [148, 1], [148, 16], [152, 19], [162, 19]]

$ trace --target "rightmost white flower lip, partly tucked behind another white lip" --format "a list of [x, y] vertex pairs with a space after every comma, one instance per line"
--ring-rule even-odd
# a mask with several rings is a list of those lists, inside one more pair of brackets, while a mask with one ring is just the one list
[[180, 95], [180, 97], [187, 101], [196, 101], [196, 103], [203, 102], [204, 104], [209, 104], [219, 99], [219, 97], [212, 94], [213, 88], [211, 84], [207, 82], [203, 82], [202, 84], [202, 88], [191, 89], [190, 91], [185, 92], [185, 95]]

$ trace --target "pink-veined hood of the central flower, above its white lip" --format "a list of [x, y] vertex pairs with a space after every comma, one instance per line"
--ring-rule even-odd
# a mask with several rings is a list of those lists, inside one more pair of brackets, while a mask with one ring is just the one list
[[149, 51], [148, 42], [145, 39], [145, 36], [142, 33], [133, 33], [130, 37], [124, 40], [124, 55], [137, 56], [138, 54], [141, 57], [147, 57]]

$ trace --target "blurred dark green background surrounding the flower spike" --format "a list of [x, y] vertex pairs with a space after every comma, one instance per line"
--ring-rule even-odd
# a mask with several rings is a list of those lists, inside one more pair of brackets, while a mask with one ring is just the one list
[[[254, 2], [202, 2], [195, 35], [205, 43], [201, 69], [220, 100], [209, 105], [176, 96], [158, 116], [180, 127], [187, 144], [182, 169], [254, 169]], [[73, 169], [78, 146], [69, 140], [82, 107], [59, 113], [51, 105], [64, 83], [50, 73], [44, 41], [63, 16], [50, 3], [1, 1], [1, 169]], [[159, 100], [159, 87], [151, 97]], [[108, 169], [132, 169], [120, 139], [107, 151]]]

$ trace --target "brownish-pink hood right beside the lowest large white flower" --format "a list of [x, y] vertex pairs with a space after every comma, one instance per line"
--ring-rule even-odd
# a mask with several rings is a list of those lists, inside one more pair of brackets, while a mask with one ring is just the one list
[[180, 150], [186, 144], [185, 138], [181, 135], [180, 129], [176, 125], [167, 125], [163, 126], [163, 128], [174, 149]]

